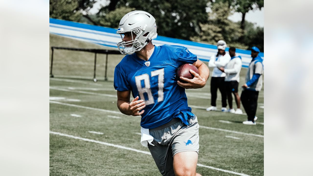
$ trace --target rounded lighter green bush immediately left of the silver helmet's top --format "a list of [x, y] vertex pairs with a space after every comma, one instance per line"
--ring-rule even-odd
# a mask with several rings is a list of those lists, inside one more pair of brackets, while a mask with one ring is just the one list
[[134, 11], [135, 8], [128, 8], [128, 7], [121, 7], [116, 8], [115, 10], [109, 12], [103, 17], [99, 18], [99, 23], [102, 26], [109, 27], [109, 28], [118, 28], [119, 23], [123, 16], [126, 13]]

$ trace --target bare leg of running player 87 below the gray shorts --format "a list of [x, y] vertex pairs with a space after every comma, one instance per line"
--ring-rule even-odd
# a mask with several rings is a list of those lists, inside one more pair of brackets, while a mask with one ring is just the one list
[[196, 173], [198, 153], [180, 152], [174, 155], [173, 167], [176, 176], [201, 176]]

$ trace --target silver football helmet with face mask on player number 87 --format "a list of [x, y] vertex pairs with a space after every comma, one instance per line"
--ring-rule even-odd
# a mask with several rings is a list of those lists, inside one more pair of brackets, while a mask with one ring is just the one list
[[[123, 34], [127, 32], [131, 33], [131, 38], [133, 40], [124, 42]], [[156, 38], [156, 20], [150, 13], [135, 10], [127, 13], [121, 19], [116, 33], [121, 34], [122, 38], [122, 41], [117, 43], [117, 47], [121, 54], [133, 54], [145, 47], [151, 39]], [[136, 34], [135, 39], [133, 38], [133, 34]], [[147, 35], [144, 36], [145, 34]], [[127, 47], [126, 45], [131, 46]]]

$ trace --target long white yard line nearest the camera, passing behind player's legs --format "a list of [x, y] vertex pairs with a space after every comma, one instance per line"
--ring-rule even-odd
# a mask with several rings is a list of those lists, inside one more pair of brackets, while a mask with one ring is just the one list
[[[122, 149], [131, 150], [131, 151], [138, 152], [138, 153], [144, 153], [144, 154], [147, 154], [147, 155], [151, 155], [150, 152], [141, 151], [141, 150], [137, 150], [137, 149], [129, 148], [129, 147], [124, 147], [124, 146], [121, 146], [121, 145], [115, 145], [115, 144], [111, 144], [111, 143], [107, 143], [107, 142], [101, 142], [101, 141], [96, 141], [96, 140], [92, 140], [92, 139], [87, 139], [87, 138], [72, 136], [72, 135], [68, 135], [68, 134], [64, 134], [64, 133], [59, 133], [59, 132], [51, 132], [51, 131], [50, 131], [50, 133], [51, 133], [51, 134], [55, 134], [55, 135], [70, 137], [70, 138], [74, 138], [74, 139], [80, 139], [80, 140], [88, 141], [88, 142], [95, 142], [95, 143], [99, 143], [99, 144], [103, 144], [103, 145], [107, 145], [107, 146], [111, 146], [111, 147], [122, 148]], [[249, 176], [249, 175], [244, 174], [244, 173], [238, 173], [238, 172], [233, 172], [233, 171], [230, 171], [230, 170], [225, 170], [225, 169], [220, 169], [220, 168], [214, 168], [214, 167], [212, 167], [212, 166], [206, 166], [206, 165], [199, 164], [199, 163], [197, 164], [197, 166], [205, 167], [205, 168], [210, 168], [210, 169], [214, 169], [214, 170], [218, 170], [218, 171], [222, 171], [222, 172], [226, 172], [226, 173], [233, 173], [233, 174], [240, 175], [240, 176]]]

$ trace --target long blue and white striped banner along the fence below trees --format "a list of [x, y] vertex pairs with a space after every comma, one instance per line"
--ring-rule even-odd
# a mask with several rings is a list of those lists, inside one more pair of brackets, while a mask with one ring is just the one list
[[[77, 23], [55, 18], [50, 18], [49, 22], [50, 34], [56, 34], [71, 39], [100, 44], [111, 47], [112, 49], [117, 49], [116, 43], [121, 41], [121, 35], [116, 34], [116, 29], [114, 28]], [[196, 54], [198, 59], [202, 61], [209, 61], [210, 57], [217, 53], [217, 46], [213, 44], [192, 42], [189, 40], [174, 39], [164, 36], [157, 36], [157, 38], [153, 39], [152, 42], [156, 46], [163, 44], [185, 46], [193, 54]], [[228, 51], [228, 49], [229, 48], [227, 48], [226, 51]], [[236, 49], [236, 54], [242, 57], [242, 66], [248, 67], [252, 59], [251, 51], [245, 49]], [[264, 53], [259, 53], [259, 56], [264, 59]]]

